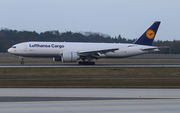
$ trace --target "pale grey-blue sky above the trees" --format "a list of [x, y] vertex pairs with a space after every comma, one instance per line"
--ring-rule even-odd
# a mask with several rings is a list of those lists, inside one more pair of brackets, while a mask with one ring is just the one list
[[92, 31], [134, 39], [156, 20], [156, 40], [180, 40], [180, 0], [0, 0], [0, 27], [19, 31]]

